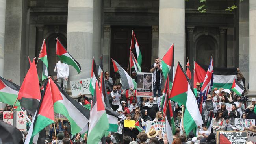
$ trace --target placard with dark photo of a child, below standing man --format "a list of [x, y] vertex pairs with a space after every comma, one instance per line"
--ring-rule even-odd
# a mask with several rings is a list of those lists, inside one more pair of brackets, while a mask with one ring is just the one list
[[153, 73], [137, 73], [137, 97], [153, 96]]

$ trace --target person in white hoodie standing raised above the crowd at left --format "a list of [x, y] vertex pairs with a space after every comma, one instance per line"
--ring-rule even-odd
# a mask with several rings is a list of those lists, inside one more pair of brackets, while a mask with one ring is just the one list
[[68, 77], [69, 77], [69, 66], [61, 61], [56, 63], [54, 72], [57, 72], [57, 81], [58, 85], [61, 87], [61, 83], [63, 83], [63, 90], [66, 91], [68, 86]]

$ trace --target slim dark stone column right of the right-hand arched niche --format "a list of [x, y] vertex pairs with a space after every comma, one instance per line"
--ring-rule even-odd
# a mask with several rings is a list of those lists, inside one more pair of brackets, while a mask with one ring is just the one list
[[227, 28], [219, 28], [219, 67], [226, 67], [226, 31]]

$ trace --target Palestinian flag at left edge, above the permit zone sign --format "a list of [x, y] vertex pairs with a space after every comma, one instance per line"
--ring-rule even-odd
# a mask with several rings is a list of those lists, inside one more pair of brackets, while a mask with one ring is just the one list
[[[20, 86], [12, 83], [0, 76], [0, 102], [14, 105]], [[20, 107], [20, 102], [16, 102], [15, 106]]]

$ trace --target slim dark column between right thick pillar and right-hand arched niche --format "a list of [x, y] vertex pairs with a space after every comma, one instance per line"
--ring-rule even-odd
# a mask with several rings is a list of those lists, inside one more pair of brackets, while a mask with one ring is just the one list
[[[194, 27], [188, 26], [187, 27], [187, 48], [188, 48], [188, 58], [189, 58], [189, 65], [190, 70], [193, 71], [194, 68]], [[187, 59], [185, 60], [187, 61]], [[186, 69], [186, 68], [185, 68]]]

